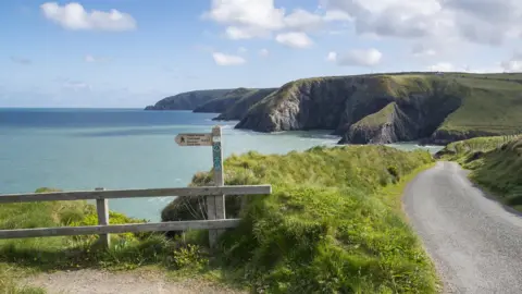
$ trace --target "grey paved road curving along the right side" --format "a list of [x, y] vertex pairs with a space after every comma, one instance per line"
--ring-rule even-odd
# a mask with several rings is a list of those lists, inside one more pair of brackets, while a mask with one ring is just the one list
[[405, 209], [445, 282], [445, 293], [522, 294], [522, 217], [438, 162], [407, 187]]

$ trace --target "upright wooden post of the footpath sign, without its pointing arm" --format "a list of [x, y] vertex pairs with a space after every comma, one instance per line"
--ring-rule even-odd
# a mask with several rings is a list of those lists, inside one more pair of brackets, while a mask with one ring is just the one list
[[[225, 183], [223, 175], [223, 137], [221, 126], [212, 128], [212, 162], [214, 169], [215, 186], [223, 186]], [[225, 196], [207, 196], [207, 215], [209, 220], [225, 219]], [[215, 246], [217, 237], [224, 230], [209, 230], [209, 245], [211, 248]]]

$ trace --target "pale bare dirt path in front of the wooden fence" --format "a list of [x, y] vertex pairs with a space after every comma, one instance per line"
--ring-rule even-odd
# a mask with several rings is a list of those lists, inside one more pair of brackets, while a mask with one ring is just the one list
[[172, 281], [157, 270], [110, 272], [102, 270], [60, 271], [30, 277], [26, 284], [40, 286], [50, 294], [109, 293], [247, 293], [201, 280]]

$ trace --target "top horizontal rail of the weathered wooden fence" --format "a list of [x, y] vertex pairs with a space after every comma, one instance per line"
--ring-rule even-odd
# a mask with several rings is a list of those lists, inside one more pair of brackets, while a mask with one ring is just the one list
[[0, 204], [164, 196], [262, 195], [270, 194], [271, 189], [270, 185], [252, 185], [7, 194], [0, 195]]

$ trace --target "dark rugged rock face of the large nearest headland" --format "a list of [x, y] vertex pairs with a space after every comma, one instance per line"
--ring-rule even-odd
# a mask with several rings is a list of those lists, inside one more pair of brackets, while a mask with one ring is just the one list
[[260, 132], [330, 128], [340, 143], [386, 144], [430, 137], [462, 103], [467, 88], [433, 77], [303, 79], [283, 86], [236, 126]]

